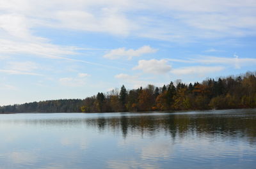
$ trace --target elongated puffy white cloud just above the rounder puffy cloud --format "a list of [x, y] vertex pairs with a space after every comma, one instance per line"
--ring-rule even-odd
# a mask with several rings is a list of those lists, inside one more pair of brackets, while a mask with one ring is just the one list
[[113, 50], [110, 50], [108, 54], [103, 55], [103, 57], [108, 59], [118, 59], [120, 57], [127, 57], [127, 59], [132, 59], [134, 56], [141, 56], [143, 54], [151, 54], [156, 52], [157, 49], [151, 48], [150, 46], [143, 46], [136, 50], [134, 49], [128, 49], [125, 50], [125, 48], [116, 48]]

